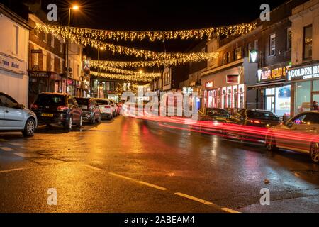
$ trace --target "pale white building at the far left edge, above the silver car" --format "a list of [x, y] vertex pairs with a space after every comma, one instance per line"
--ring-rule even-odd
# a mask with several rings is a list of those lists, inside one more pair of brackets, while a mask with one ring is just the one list
[[28, 105], [28, 22], [0, 4], [0, 92]]

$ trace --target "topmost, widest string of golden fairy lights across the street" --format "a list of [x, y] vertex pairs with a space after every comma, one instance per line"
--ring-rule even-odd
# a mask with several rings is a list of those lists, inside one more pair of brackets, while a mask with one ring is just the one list
[[76, 28], [54, 25], [36, 24], [36, 29], [55, 31], [59, 36], [82, 36], [92, 39], [100, 40], [145, 40], [152, 42], [155, 40], [189, 40], [189, 39], [203, 39], [204, 37], [211, 37], [211, 35], [245, 35], [256, 28], [257, 23], [242, 23], [239, 25], [220, 26], [201, 29], [179, 30], [179, 31], [111, 31], [91, 28]]

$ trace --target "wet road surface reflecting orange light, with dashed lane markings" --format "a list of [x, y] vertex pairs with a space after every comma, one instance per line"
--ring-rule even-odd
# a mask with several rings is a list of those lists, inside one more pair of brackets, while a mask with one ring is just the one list
[[0, 134], [1, 212], [318, 212], [318, 200], [319, 165], [307, 155], [156, 122]]

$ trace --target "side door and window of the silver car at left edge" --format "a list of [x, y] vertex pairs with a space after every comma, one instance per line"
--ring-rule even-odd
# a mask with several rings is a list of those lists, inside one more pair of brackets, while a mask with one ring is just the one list
[[18, 102], [6, 94], [0, 94], [2, 126], [4, 129], [24, 128], [24, 112], [18, 109]]

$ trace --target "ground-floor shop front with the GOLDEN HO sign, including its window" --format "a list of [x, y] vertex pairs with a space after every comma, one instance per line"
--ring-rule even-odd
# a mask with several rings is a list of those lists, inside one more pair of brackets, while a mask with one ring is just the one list
[[312, 65], [291, 67], [288, 72], [291, 81], [291, 114], [318, 110], [319, 62]]

